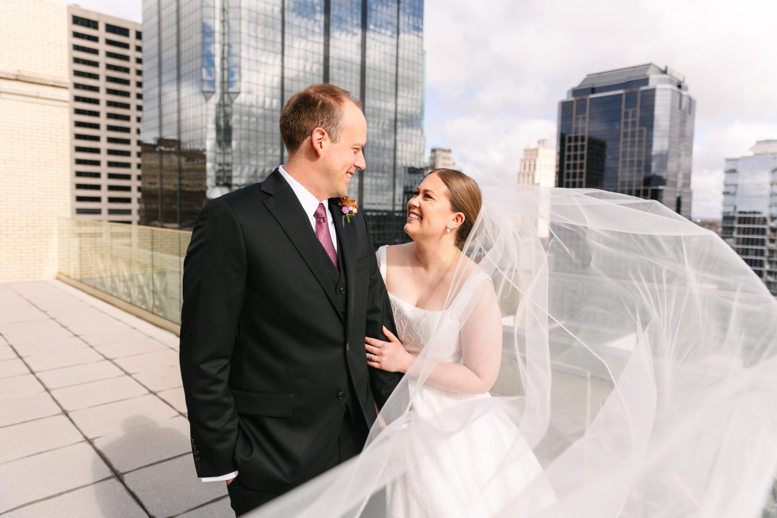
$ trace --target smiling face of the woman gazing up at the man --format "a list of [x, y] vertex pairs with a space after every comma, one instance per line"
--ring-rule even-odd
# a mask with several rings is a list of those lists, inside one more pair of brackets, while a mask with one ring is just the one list
[[[413, 241], [426, 238], [450, 239], [455, 242], [456, 230], [464, 222], [464, 214], [451, 210], [448, 191], [439, 176], [430, 174], [407, 202], [405, 231]], [[451, 231], [448, 232], [448, 224]]]

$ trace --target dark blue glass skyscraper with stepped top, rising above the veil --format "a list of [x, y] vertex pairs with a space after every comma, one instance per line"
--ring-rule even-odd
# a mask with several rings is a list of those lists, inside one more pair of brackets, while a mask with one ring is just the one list
[[559, 103], [556, 186], [657, 200], [691, 217], [695, 101], [654, 64], [589, 74]]

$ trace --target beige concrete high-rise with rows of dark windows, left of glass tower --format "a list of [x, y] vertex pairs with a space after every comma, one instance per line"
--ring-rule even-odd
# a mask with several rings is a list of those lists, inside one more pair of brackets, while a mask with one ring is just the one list
[[142, 26], [68, 5], [71, 215], [138, 223]]

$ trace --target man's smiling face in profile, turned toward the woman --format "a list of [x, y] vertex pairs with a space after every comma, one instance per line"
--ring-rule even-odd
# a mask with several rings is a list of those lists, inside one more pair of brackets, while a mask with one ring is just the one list
[[329, 198], [347, 196], [350, 177], [366, 166], [362, 153], [367, 142], [367, 121], [364, 120], [364, 113], [361, 113], [354, 103], [346, 101], [340, 124], [340, 140], [332, 142], [326, 137], [326, 145], [321, 155], [322, 191], [326, 192]]

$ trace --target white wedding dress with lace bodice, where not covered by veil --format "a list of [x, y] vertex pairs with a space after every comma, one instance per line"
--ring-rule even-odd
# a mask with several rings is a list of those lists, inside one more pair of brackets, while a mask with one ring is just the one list
[[[384, 280], [386, 248], [378, 249], [378, 265]], [[476, 285], [484, 279], [489, 279], [486, 273], [471, 276], [453, 304], [471, 298]], [[416, 308], [390, 293], [389, 298], [398, 338], [409, 353], [417, 356], [437, 328], [442, 311]], [[458, 329], [447, 342], [450, 348], [440, 361], [460, 363], [462, 346]], [[465, 400], [491, 397], [488, 393], [466, 395], [423, 384], [413, 397], [410, 412], [430, 419]], [[542, 475], [537, 458], [514, 423], [500, 410], [492, 411], [439, 444], [390, 483], [386, 490], [387, 515], [392, 518], [495, 516]], [[538, 487], [543, 494], [535, 498], [545, 502], [555, 500], [549, 485], [541, 481]]]

